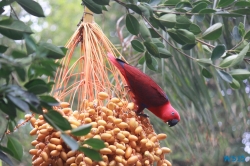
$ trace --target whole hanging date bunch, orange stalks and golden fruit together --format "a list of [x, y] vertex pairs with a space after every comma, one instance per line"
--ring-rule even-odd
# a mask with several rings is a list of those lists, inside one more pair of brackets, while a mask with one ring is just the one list
[[[100, 150], [103, 161], [95, 162], [82, 152], [71, 151], [63, 142], [60, 132], [53, 129], [40, 115], [31, 118], [37, 135], [30, 150], [33, 165], [171, 165], [165, 159], [170, 152], [160, 147], [159, 140], [166, 134], [156, 134], [149, 119], [136, 116], [134, 103], [125, 97], [126, 84], [121, 74], [106, 58], [107, 52], [119, 54], [111, 42], [93, 22], [93, 16], [86, 12], [85, 19], [66, 44], [68, 53], [61, 61], [55, 79], [54, 97], [61, 101], [56, 110], [71, 123], [72, 128], [82, 124], [92, 124], [91, 132], [74, 137], [77, 141], [98, 138], [106, 147]], [[81, 55], [72, 64], [72, 55], [77, 46]], [[108, 77], [112, 75], [112, 79]], [[68, 101], [68, 102], [63, 102]], [[75, 106], [76, 105], [76, 106]], [[72, 108], [76, 110], [73, 111]]]

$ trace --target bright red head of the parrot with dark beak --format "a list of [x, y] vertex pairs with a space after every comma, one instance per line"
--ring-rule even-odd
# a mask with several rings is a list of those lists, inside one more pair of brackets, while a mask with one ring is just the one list
[[179, 113], [172, 107], [170, 102], [165, 105], [162, 119], [169, 127], [175, 126], [180, 121]]

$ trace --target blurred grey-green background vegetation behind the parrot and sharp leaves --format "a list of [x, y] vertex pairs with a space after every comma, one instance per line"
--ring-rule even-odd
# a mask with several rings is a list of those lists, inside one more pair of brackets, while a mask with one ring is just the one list
[[[43, 0], [39, 3], [45, 11], [46, 18], [33, 17], [18, 8], [15, 10], [20, 19], [31, 25], [37, 40], [63, 46], [76, 30], [82, 17], [81, 2]], [[158, 60], [160, 72], [153, 72], [145, 66], [137, 65], [138, 59], [142, 55], [134, 52], [128, 42], [131, 36], [127, 33], [124, 24], [125, 14], [124, 8], [112, 2], [108, 7], [108, 12], [95, 15], [95, 20], [128, 62], [154, 78], [168, 94], [172, 105], [179, 111], [181, 122], [172, 128], [163, 124], [153, 115], [150, 116], [156, 132], [168, 135], [166, 141], [161, 142], [162, 146], [172, 149], [172, 153], [166, 156], [167, 159], [174, 166], [248, 165], [249, 162], [224, 162], [223, 158], [225, 155], [236, 157], [244, 155], [247, 161], [250, 160], [249, 80], [242, 81], [239, 90], [233, 90], [220, 77], [216, 76], [217, 73], [212, 68], [210, 71], [215, 77], [206, 79], [201, 75], [201, 67], [197, 63], [168, 46], [173, 57]], [[118, 21], [119, 19], [121, 22]], [[203, 22], [199, 23], [200, 27], [203, 30], [206, 29], [210, 20], [210, 17], [205, 18]], [[222, 22], [225, 25], [225, 34], [219, 42], [231, 48], [236, 42], [232, 37], [232, 29], [239, 22], [243, 22], [243, 18], [221, 19], [215, 17], [214, 22]], [[249, 17], [246, 17], [245, 27], [249, 29]], [[123, 37], [119, 37], [118, 33], [121, 33]], [[10, 41], [1, 38], [0, 42]], [[13, 43], [13, 47], [19, 45], [20, 43]], [[206, 51], [199, 44], [187, 53], [197, 58], [208, 57]], [[243, 66], [243, 68], [248, 69], [249, 66]], [[20, 119], [23, 116], [20, 114]], [[4, 124], [4, 117], [0, 116], [1, 131], [5, 128]], [[20, 166], [31, 163], [28, 151], [32, 147], [30, 142], [34, 138], [29, 135], [30, 129], [30, 125], [26, 124], [18, 132], [13, 133], [24, 146], [23, 162], [16, 162]]]

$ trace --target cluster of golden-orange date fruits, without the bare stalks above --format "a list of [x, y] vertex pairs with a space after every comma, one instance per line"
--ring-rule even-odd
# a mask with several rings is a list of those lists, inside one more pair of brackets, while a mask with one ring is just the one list
[[[82, 152], [71, 151], [63, 142], [60, 132], [45, 122], [42, 115], [31, 118], [34, 127], [30, 135], [36, 135], [31, 142], [34, 149], [29, 152], [34, 166], [147, 166], [156, 163], [157, 166], [170, 166], [165, 154], [171, 150], [160, 147], [160, 140], [166, 134], [156, 134], [145, 117], [136, 116], [134, 103], [127, 100], [111, 98], [100, 92], [98, 99], [85, 100], [82, 110], [73, 111], [70, 104], [61, 102], [57, 111], [70, 122], [72, 128], [82, 124], [92, 124], [90, 133], [85, 136], [72, 137], [78, 142], [89, 138], [101, 139], [106, 147], [100, 150], [102, 161], [92, 161]], [[106, 103], [102, 106], [100, 103]], [[70, 133], [69, 133], [70, 134]]]

